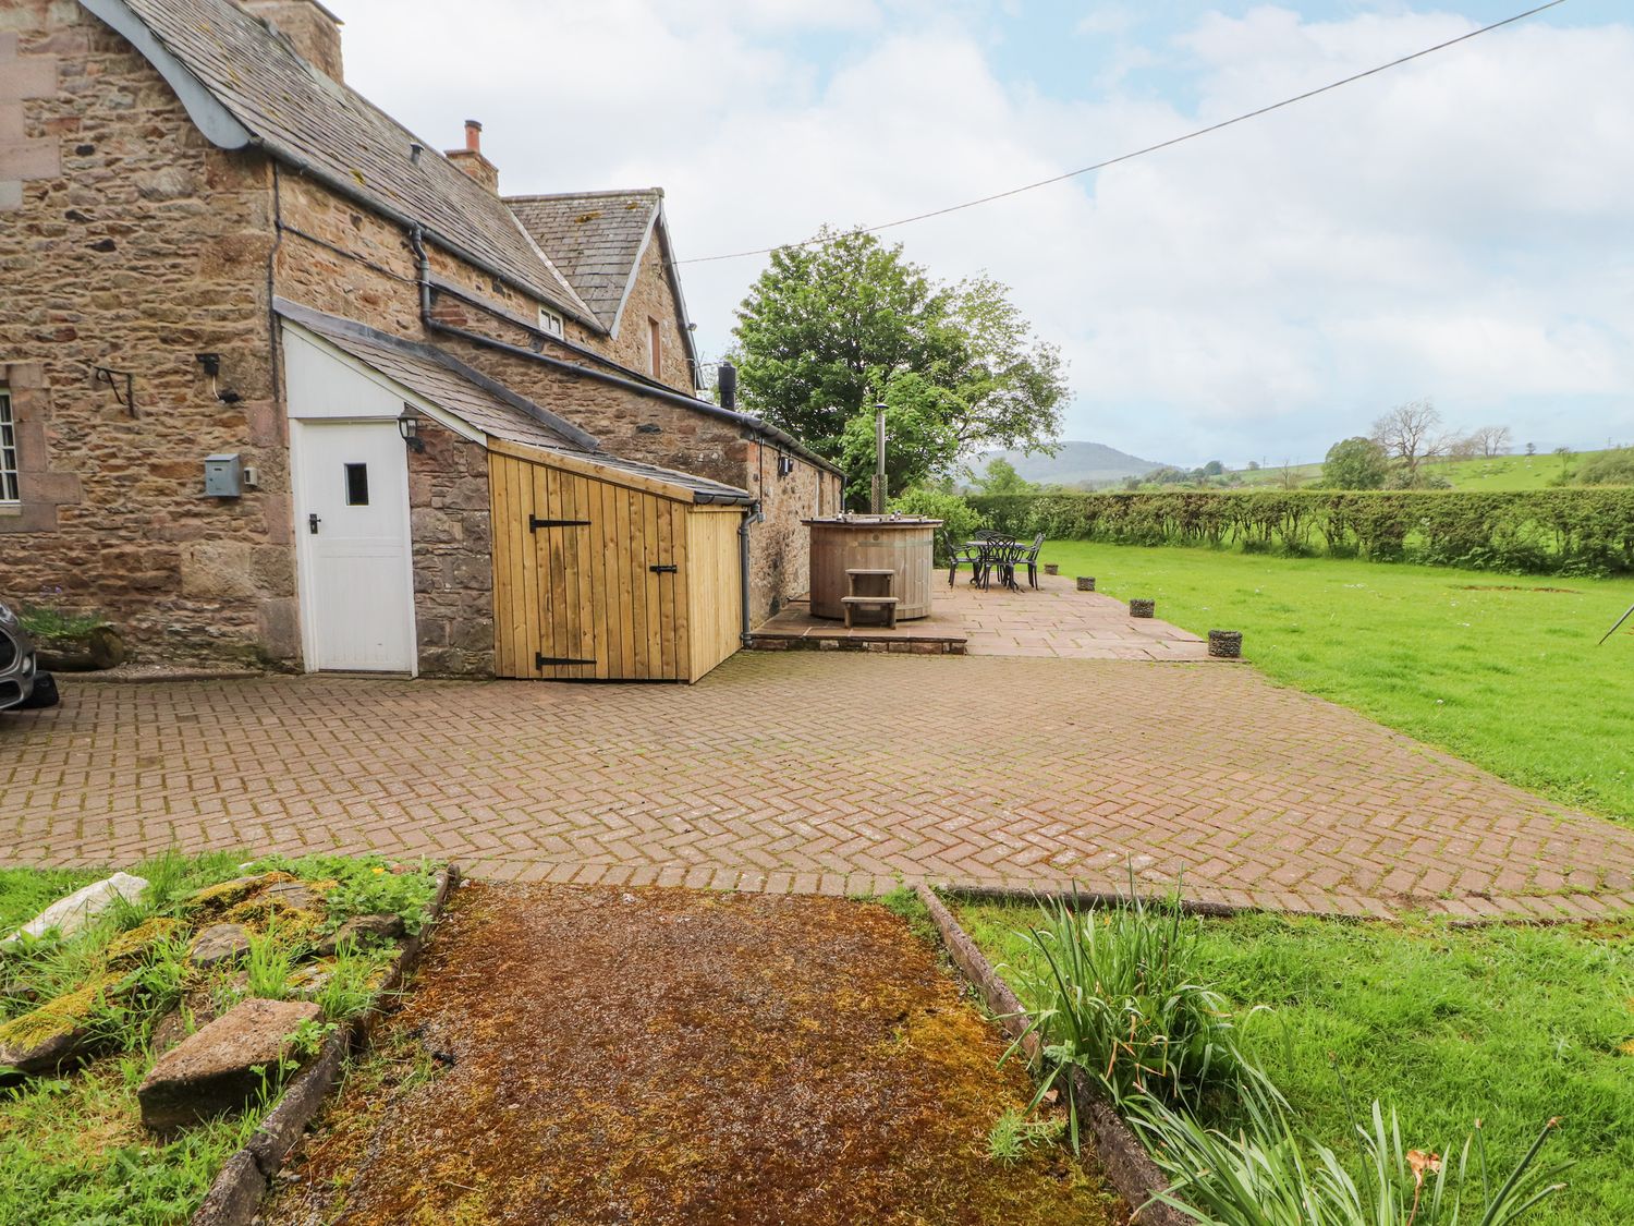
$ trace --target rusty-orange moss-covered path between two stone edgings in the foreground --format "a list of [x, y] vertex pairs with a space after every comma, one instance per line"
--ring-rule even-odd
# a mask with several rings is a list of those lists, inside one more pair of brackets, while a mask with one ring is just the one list
[[477, 884], [265, 1219], [1116, 1221], [1003, 1049], [884, 907]]

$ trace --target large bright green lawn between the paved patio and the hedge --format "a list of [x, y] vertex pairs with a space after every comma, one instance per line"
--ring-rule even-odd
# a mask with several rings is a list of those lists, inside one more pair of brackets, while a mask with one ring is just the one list
[[[1046, 562], [1155, 597], [1286, 685], [1511, 783], [1634, 821], [1634, 633], [1596, 639], [1634, 579], [1549, 579], [1327, 557], [1051, 541]], [[1634, 631], [1634, 620], [1624, 631]]]

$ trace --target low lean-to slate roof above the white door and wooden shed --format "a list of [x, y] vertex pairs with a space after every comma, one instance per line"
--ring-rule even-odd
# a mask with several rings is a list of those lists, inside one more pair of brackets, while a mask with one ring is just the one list
[[613, 472], [627, 472], [678, 485], [688, 490], [694, 502], [747, 503], [752, 500], [748, 490], [735, 485], [609, 454], [601, 450], [593, 435], [518, 396], [435, 345], [392, 337], [284, 298], [273, 299], [273, 307], [284, 319], [315, 332], [335, 348], [453, 414], [489, 438], [503, 438], [541, 451], [585, 459]]

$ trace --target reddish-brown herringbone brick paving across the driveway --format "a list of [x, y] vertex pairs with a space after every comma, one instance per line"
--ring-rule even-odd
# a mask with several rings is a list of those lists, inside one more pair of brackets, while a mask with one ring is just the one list
[[477, 875], [1095, 889], [1346, 914], [1634, 907], [1634, 830], [1247, 667], [739, 654], [681, 687], [69, 685], [0, 716], [0, 853], [454, 857]]

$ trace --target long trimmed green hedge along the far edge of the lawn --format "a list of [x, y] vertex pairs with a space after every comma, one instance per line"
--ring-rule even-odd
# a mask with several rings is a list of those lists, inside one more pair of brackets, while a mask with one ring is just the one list
[[1634, 572], [1634, 489], [1000, 494], [971, 505], [1016, 536], [1214, 544], [1534, 574]]

